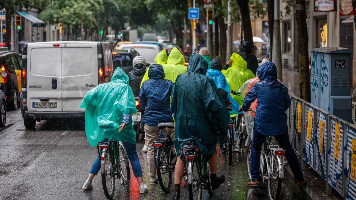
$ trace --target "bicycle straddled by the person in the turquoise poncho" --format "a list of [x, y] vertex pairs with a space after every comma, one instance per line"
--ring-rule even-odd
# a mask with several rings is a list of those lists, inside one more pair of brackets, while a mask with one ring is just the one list
[[112, 199], [116, 178], [121, 180], [121, 185], [130, 186], [129, 159], [121, 141], [98, 142], [97, 149], [101, 159], [100, 171], [104, 194], [106, 198]]

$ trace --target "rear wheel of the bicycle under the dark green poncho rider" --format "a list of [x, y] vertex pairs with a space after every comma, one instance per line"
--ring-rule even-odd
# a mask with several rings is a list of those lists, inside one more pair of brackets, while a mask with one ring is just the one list
[[201, 183], [198, 163], [190, 159], [188, 163], [188, 192], [190, 200], [201, 199]]

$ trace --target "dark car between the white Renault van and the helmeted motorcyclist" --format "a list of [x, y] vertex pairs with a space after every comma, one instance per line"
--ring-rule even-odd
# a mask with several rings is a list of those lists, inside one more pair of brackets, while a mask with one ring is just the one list
[[112, 60], [114, 61], [114, 68], [120, 67], [126, 74], [132, 71], [132, 60], [140, 54], [135, 49], [130, 50], [114, 50], [112, 52]]

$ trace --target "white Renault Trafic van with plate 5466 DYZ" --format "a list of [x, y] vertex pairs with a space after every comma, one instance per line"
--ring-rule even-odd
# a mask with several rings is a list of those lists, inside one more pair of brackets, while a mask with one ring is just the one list
[[110, 82], [112, 53], [106, 42], [26, 43], [22, 54], [21, 113], [26, 128], [36, 121], [84, 117], [87, 92]]

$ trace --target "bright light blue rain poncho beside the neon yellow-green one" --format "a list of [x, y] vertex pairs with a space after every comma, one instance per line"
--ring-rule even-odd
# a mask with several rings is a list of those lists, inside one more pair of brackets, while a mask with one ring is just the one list
[[[227, 99], [229, 99], [232, 102], [232, 109], [236, 112], [239, 111], [240, 105], [239, 103], [232, 98], [230, 95], [230, 85], [227, 84], [226, 78], [223, 73], [221, 73], [219, 70], [216, 69], [208, 69], [208, 72], [206, 72], [206, 76], [212, 78], [215, 82], [216, 88], [221, 88], [227, 92]], [[235, 113], [236, 113], [235, 112]], [[230, 112], [230, 114], [233, 114]]]

